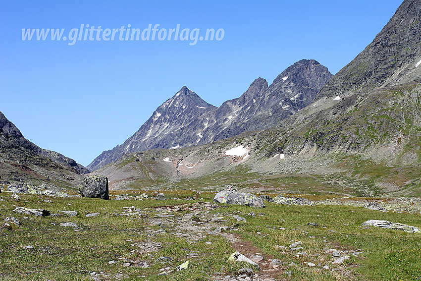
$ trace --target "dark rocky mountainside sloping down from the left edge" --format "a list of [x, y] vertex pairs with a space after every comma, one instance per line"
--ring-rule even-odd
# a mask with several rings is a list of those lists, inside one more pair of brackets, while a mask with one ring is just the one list
[[0, 112], [0, 175], [2, 180], [50, 181], [77, 186], [89, 170], [73, 159], [42, 149], [27, 140]]

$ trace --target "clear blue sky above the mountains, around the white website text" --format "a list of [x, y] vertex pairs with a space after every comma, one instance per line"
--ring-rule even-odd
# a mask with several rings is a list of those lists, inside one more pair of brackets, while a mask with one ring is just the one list
[[[333, 74], [401, 0], [0, 1], [0, 111], [38, 146], [88, 165], [186, 85], [219, 106], [316, 59]], [[22, 41], [22, 28], [223, 28], [220, 41]]]

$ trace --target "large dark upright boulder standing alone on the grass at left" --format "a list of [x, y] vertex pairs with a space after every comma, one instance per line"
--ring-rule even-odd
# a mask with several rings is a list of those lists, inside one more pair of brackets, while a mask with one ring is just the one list
[[105, 175], [89, 175], [79, 187], [82, 197], [108, 200], [108, 178]]

